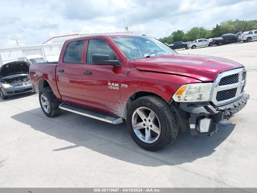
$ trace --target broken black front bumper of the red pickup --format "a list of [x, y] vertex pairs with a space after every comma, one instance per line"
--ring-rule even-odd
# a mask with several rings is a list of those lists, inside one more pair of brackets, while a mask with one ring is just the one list
[[[176, 113], [179, 127], [182, 131], [190, 129], [192, 135], [211, 135], [218, 132], [218, 124], [221, 120], [229, 119], [235, 113], [243, 109], [250, 95], [244, 95], [235, 102], [216, 107], [210, 102], [199, 103], [172, 103], [171, 108]], [[211, 119], [207, 132], [200, 131], [200, 120]]]

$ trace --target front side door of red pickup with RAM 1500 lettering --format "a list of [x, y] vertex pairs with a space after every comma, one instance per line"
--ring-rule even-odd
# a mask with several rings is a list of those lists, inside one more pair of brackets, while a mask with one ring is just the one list
[[[119, 113], [121, 65], [96, 64], [92, 55], [104, 54], [109, 60], [118, 60], [109, 42], [102, 37], [87, 38], [85, 63], [82, 65], [82, 88], [86, 105], [107, 112]], [[108, 60], [108, 59], [106, 59]], [[121, 61], [119, 59], [119, 61]]]

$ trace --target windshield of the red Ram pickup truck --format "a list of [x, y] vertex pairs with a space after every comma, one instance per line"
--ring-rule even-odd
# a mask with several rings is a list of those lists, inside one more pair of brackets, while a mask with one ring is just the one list
[[154, 38], [128, 36], [112, 37], [112, 40], [120, 48], [123, 54], [130, 60], [176, 53], [167, 45]]

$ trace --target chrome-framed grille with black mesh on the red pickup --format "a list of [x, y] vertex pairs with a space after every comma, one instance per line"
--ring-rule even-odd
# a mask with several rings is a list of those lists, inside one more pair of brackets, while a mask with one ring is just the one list
[[245, 83], [245, 68], [220, 73], [214, 83], [212, 102], [221, 106], [238, 100], [244, 93]]

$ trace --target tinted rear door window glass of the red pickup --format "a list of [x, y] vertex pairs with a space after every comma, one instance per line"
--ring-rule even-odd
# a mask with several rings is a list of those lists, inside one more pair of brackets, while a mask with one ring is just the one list
[[84, 40], [70, 42], [65, 50], [63, 62], [80, 64]]

